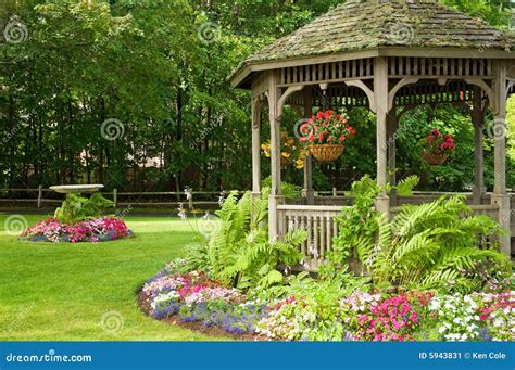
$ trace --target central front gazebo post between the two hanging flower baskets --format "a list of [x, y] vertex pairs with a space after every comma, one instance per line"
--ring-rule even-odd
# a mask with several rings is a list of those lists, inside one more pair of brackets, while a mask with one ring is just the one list
[[376, 197], [376, 208], [379, 212], [390, 213], [390, 200], [386, 193], [388, 181], [388, 157], [387, 157], [387, 115], [388, 106], [388, 64], [385, 58], [376, 58], [374, 74], [374, 97], [376, 101], [377, 115], [377, 184], [381, 193]]

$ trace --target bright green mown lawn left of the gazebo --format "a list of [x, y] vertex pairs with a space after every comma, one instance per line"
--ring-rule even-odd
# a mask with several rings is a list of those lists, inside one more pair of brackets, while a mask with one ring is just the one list
[[[136, 232], [110, 243], [18, 242], [0, 215], [0, 340], [190, 341], [214, 340], [162, 323], [138, 310], [135, 292], [167, 261], [180, 256], [193, 232], [172, 218], [128, 217]], [[42, 216], [25, 216], [29, 225]], [[102, 317], [115, 312], [112, 333]]]

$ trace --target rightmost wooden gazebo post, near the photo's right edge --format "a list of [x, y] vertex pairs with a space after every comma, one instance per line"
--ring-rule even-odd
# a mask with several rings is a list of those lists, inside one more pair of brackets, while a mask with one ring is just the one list
[[500, 250], [508, 258], [511, 257], [511, 240], [510, 240], [510, 195], [506, 192], [506, 65], [503, 61], [497, 62], [497, 81], [494, 116], [495, 126], [493, 128], [494, 142], [494, 187], [492, 194], [492, 204], [499, 206], [499, 225], [505, 230], [504, 235], [499, 237]]

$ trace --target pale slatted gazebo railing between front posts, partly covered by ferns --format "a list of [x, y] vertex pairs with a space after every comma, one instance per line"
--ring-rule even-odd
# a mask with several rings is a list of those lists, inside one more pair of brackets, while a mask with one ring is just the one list
[[325, 260], [327, 251], [332, 246], [332, 238], [338, 233], [335, 220], [342, 206], [313, 206], [284, 204], [277, 207], [279, 220], [279, 239], [288, 231], [306, 230], [307, 240], [300, 246], [304, 255], [304, 269], [317, 270]]

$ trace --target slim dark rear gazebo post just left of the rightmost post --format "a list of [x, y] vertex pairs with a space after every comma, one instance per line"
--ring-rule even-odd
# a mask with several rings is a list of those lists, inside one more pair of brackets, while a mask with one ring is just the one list
[[481, 204], [481, 197], [487, 192], [487, 188], [485, 187], [485, 155], [482, 150], [485, 110], [482, 109], [481, 104], [481, 89], [477, 86], [475, 86], [473, 90], [473, 109], [470, 115], [474, 125], [474, 154], [476, 157], [476, 167], [474, 171], [473, 203]]

